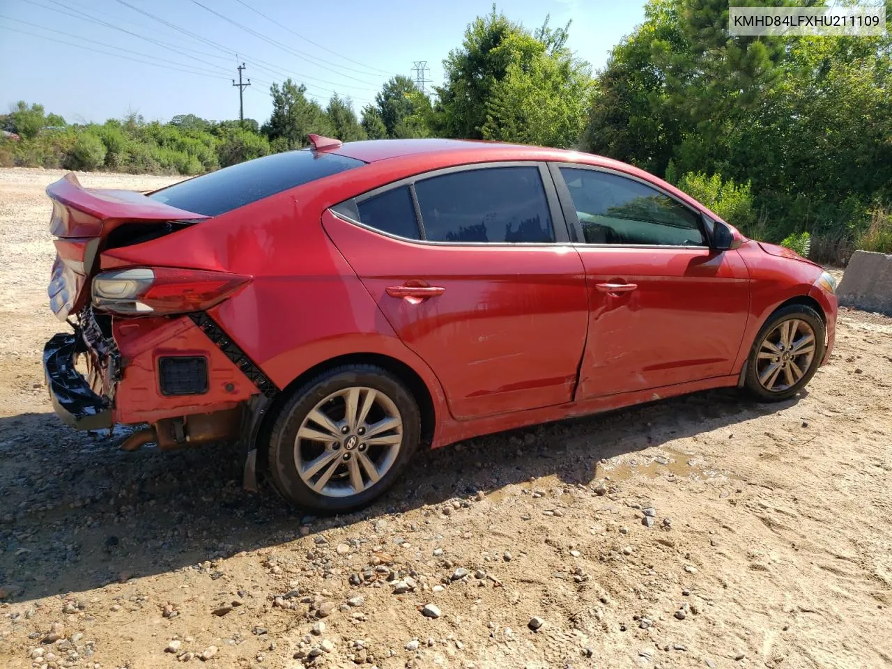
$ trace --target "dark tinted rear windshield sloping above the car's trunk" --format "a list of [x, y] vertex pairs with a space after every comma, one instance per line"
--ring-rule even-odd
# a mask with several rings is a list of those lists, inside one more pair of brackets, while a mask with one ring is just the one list
[[149, 197], [186, 211], [218, 216], [294, 186], [364, 164], [335, 153], [309, 150], [275, 153], [162, 188]]

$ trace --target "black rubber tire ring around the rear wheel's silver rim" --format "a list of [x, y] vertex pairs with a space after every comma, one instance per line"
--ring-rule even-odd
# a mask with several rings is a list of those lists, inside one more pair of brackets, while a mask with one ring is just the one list
[[[318, 403], [335, 392], [351, 387], [374, 389], [392, 401], [400, 412], [402, 440], [389, 469], [376, 483], [357, 494], [340, 497], [321, 494], [306, 483], [295, 461], [295, 441], [301, 425]], [[327, 406], [327, 405], [326, 405]], [[365, 507], [384, 494], [396, 481], [421, 440], [421, 417], [417, 402], [404, 384], [390, 372], [374, 365], [347, 365], [328, 369], [292, 393], [280, 409], [269, 435], [268, 469], [277, 492], [296, 507], [320, 514], [345, 513]], [[298, 448], [304, 448], [304, 442]], [[312, 444], [312, 442], [310, 442]], [[364, 446], [364, 444], [363, 444]], [[321, 447], [320, 447], [321, 448]], [[345, 446], [342, 455], [347, 455]], [[333, 450], [335, 447], [326, 447]], [[370, 450], [368, 451], [371, 452]], [[302, 451], [301, 451], [302, 453]], [[358, 453], [353, 452], [353, 458]], [[334, 464], [334, 460], [332, 461]], [[359, 467], [359, 465], [357, 465]], [[346, 469], [346, 465], [343, 466]], [[363, 469], [368, 475], [368, 470]], [[343, 475], [341, 475], [343, 477]], [[333, 476], [335, 478], [335, 476]]]

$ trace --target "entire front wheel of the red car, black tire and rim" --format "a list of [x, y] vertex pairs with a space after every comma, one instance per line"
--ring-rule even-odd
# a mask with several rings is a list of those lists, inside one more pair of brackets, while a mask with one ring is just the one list
[[[813, 337], [811, 342], [809, 334]], [[744, 382], [747, 391], [760, 401], [789, 400], [811, 381], [821, 365], [824, 339], [824, 322], [811, 307], [790, 304], [775, 311], [762, 326], [749, 353]], [[783, 345], [785, 340], [787, 346]]]

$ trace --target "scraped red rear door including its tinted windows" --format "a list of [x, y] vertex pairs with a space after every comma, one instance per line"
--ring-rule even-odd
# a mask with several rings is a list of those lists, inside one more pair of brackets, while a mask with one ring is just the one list
[[454, 417], [573, 399], [588, 297], [545, 166], [438, 170], [344, 202], [323, 223]]

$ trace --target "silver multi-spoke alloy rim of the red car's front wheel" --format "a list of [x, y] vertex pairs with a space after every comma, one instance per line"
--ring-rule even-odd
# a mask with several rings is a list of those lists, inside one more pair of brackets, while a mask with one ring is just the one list
[[762, 340], [756, 356], [756, 376], [768, 392], [783, 392], [812, 367], [814, 329], [805, 320], [780, 321]]

